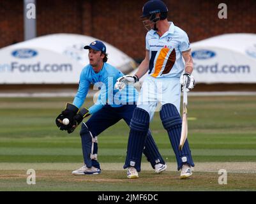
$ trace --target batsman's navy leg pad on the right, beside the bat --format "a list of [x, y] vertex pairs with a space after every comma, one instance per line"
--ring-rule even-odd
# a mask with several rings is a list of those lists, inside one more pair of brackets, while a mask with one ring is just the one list
[[182, 120], [176, 106], [171, 103], [167, 103], [162, 106], [160, 111], [160, 117], [162, 120], [163, 127], [167, 130], [169, 135], [172, 149], [174, 150], [177, 159], [177, 170], [181, 169], [184, 163], [195, 166], [188, 145], [188, 140], [184, 143], [183, 149], [179, 150], [179, 141], [181, 140], [181, 126]]

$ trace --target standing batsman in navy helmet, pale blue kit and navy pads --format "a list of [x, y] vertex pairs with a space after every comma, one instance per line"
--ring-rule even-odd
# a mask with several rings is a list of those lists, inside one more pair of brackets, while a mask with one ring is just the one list
[[[147, 29], [146, 55], [135, 76], [117, 79], [116, 87], [123, 89], [148, 73], [143, 82], [137, 108], [133, 112], [124, 168], [129, 179], [139, 178], [144, 142], [147, 140], [149, 122], [158, 102], [161, 103], [160, 119], [167, 131], [176, 156], [181, 179], [192, 175], [194, 166], [188, 140], [179, 150], [182, 120], [179, 114], [181, 85], [186, 91], [193, 89], [193, 60], [188, 35], [167, 20], [168, 8], [160, 0], [147, 1], [142, 9], [142, 21]], [[183, 63], [183, 59], [184, 62]], [[136, 78], [136, 80], [133, 80]], [[138, 127], [137, 124], [140, 123]]]

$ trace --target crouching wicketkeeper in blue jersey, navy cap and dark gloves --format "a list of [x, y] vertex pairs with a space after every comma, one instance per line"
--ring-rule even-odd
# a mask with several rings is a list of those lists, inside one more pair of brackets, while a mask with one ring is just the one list
[[[84, 165], [78, 170], [72, 171], [73, 175], [101, 173], [100, 163], [97, 161], [97, 136], [121, 119], [129, 126], [138, 97], [138, 92], [133, 86], [128, 85], [122, 91], [114, 89], [117, 78], [124, 75], [107, 63], [108, 54], [102, 41], [93, 41], [84, 48], [89, 49], [89, 64], [82, 69], [79, 89], [73, 103], [67, 103], [66, 108], [56, 118], [56, 124], [61, 130], [72, 133], [85, 117], [91, 115], [87, 122], [82, 122], [80, 131]], [[81, 108], [79, 111], [86, 99], [90, 84], [100, 87], [98, 100], [89, 109]], [[66, 126], [62, 123], [64, 118], [70, 120]], [[138, 124], [138, 128], [139, 126], [140, 124]], [[150, 131], [147, 131], [143, 153], [156, 173], [161, 173], [167, 168]]]

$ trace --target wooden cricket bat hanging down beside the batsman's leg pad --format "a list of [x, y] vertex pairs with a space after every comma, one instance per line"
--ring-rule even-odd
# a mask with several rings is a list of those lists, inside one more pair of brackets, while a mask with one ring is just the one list
[[188, 137], [188, 94], [186, 88], [183, 87], [183, 114], [182, 114], [182, 127], [181, 127], [181, 140], [179, 142], [179, 150], [182, 150], [183, 145]]

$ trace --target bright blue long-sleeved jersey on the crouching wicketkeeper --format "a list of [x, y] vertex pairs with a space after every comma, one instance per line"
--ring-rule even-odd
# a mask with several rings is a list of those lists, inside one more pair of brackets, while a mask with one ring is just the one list
[[86, 99], [91, 84], [100, 89], [98, 101], [89, 108], [91, 114], [100, 110], [104, 105], [119, 107], [126, 104], [135, 104], [139, 96], [137, 90], [128, 85], [122, 91], [114, 88], [117, 78], [124, 74], [110, 64], [104, 63], [100, 72], [95, 73], [93, 67], [88, 64], [80, 74], [79, 89], [73, 100], [73, 105], [80, 108]]

